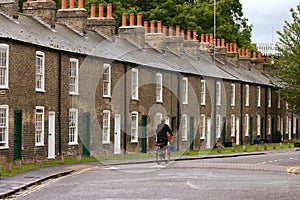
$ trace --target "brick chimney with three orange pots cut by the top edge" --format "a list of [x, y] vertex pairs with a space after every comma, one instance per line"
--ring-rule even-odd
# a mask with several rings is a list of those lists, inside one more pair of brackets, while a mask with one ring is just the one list
[[74, 6], [74, 0], [70, 0], [70, 8], [66, 8], [66, 0], [62, 0], [62, 8], [57, 11], [57, 22], [68, 24], [76, 30], [86, 33], [87, 11], [83, 8], [83, 0], [78, 0], [78, 8]]

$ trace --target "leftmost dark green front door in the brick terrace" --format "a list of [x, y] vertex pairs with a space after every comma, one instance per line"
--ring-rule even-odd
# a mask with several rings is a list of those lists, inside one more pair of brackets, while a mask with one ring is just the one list
[[14, 161], [22, 159], [22, 110], [14, 111]]

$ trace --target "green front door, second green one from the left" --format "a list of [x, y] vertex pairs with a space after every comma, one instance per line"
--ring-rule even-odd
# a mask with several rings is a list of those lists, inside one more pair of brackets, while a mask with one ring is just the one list
[[90, 156], [90, 113], [83, 113], [82, 155]]

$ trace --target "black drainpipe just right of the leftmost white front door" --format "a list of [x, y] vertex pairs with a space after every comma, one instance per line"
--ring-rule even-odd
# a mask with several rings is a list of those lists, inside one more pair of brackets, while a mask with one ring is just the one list
[[58, 52], [58, 153], [62, 155], [62, 148], [61, 148], [61, 88], [62, 88], [62, 56], [61, 52]]

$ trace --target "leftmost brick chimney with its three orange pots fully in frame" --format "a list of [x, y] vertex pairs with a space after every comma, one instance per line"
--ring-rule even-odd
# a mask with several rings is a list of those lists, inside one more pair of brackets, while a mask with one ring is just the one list
[[[87, 19], [87, 29], [91, 31], [99, 31], [112, 37], [115, 34], [116, 21], [112, 17], [112, 4], [107, 4], [106, 17], [104, 17], [104, 5], [99, 4], [98, 17], [96, 16], [96, 4], [91, 4], [91, 16]], [[122, 23], [126, 24], [126, 21]], [[126, 20], [126, 16], [125, 16]]]

